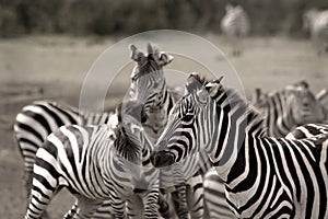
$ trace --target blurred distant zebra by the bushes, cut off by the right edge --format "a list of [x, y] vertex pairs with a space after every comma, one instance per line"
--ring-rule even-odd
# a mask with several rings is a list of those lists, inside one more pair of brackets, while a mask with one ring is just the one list
[[309, 9], [303, 14], [303, 27], [309, 31], [318, 55], [328, 51], [328, 10]]

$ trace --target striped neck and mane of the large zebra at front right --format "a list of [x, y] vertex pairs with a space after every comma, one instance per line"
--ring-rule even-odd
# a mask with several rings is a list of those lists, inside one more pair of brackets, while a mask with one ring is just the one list
[[245, 143], [267, 135], [263, 118], [255, 108], [235, 94], [227, 96], [219, 96], [216, 101], [222, 104], [212, 110], [216, 123], [212, 125], [213, 122], [209, 122], [213, 135], [208, 147], [211, 161], [224, 181], [227, 181], [232, 168], [245, 157], [241, 153]]

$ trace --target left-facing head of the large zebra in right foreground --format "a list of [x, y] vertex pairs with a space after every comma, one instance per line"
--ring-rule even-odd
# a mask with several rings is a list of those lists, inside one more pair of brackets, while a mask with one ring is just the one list
[[213, 131], [208, 126], [210, 123], [206, 120], [215, 119], [211, 112], [216, 107], [209, 93], [222, 88], [221, 79], [204, 82], [198, 74], [189, 76], [186, 83], [187, 94], [171, 110], [167, 125], [151, 155], [155, 168], [172, 165], [186, 155], [207, 148]]

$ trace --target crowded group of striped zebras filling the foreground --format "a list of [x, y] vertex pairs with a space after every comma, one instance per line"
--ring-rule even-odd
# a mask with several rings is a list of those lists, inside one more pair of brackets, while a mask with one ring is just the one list
[[247, 103], [191, 74], [181, 95], [166, 84], [171, 55], [130, 49], [116, 112], [36, 101], [17, 114], [25, 219], [46, 217], [63, 187], [77, 200], [63, 218], [328, 217], [328, 126], [311, 124], [328, 118], [325, 90], [301, 81]]

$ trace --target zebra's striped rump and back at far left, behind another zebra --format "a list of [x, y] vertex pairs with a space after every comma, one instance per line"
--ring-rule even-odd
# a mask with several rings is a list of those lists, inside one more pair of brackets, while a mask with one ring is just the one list
[[16, 115], [14, 138], [24, 160], [24, 186], [30, 197], [33, 164], [37, 149], [47, 136], [63, 125], [106, 124], [113, 113], [79, 112], [78, 108], [55, 101], [34, 101]]

